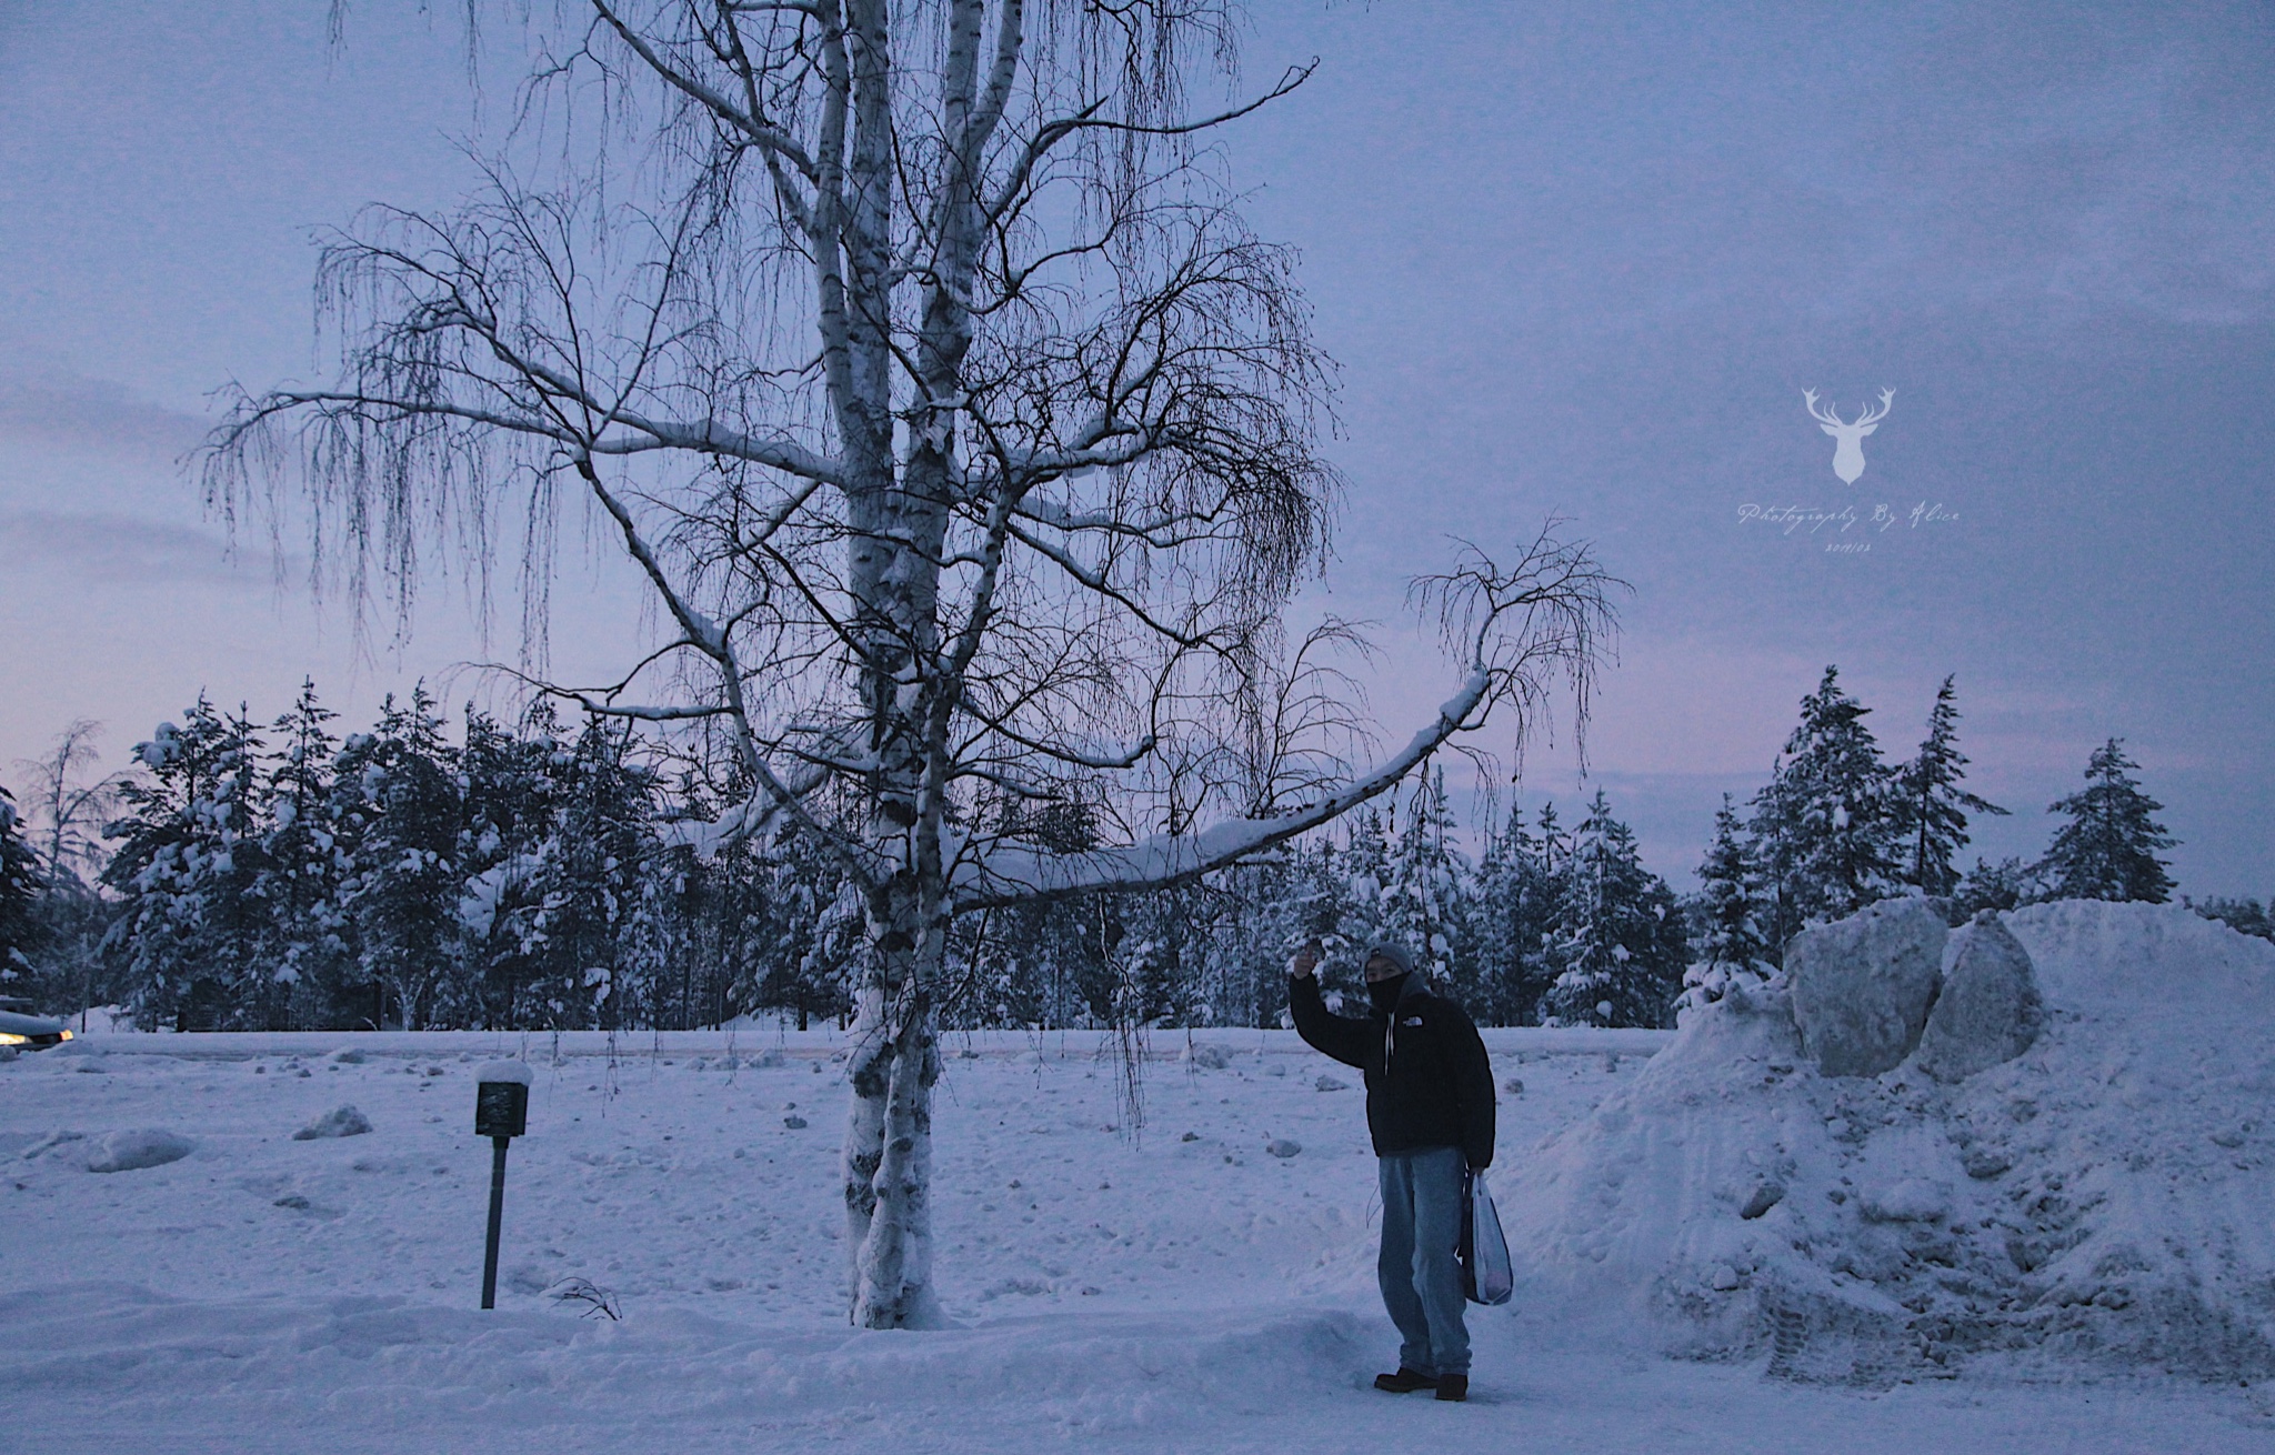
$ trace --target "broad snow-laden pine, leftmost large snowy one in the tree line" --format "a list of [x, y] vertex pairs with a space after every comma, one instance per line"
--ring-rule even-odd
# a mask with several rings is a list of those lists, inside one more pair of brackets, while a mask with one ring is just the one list
[[198, 696], [182, 725], [159, 723], [134, 748], [146, 775], [118, 796], [121, 839], [102, 871], [118, 891], [114, 941], [130, 1005], [175, 1030], [266, 1030], [287, 1023], [284, 991], [262, 959], [262, 741], [246, 714]]

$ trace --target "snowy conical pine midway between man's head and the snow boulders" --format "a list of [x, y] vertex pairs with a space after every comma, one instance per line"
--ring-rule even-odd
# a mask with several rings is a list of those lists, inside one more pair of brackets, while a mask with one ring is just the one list
[[1643, 866], [1636, 834], [1604, 789], [1572, 830], [1554, 932], [1556, 982], [1540, 1009], [1556, 1025], [1665, 1025], [1686, 943], [1674, 893]]

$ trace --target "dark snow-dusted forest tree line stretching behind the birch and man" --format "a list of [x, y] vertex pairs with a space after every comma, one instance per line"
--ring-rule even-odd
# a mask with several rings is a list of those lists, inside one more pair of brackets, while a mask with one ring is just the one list
[[[1724, 796], [1693, 893], [1643, 864], [1602, 789], [1472, 839], [1429, 773], [1254, 864], [967, 916], [937, 1009], [946, 1025], [1274, 1025], [1288, 950], [1320, 937], [1345, 975], [1370, 941], [1413, 946], [1481, 1023], [1670, 1025], [1684, 1000], [1772, 975], [1795, 930], [1891, 893], [1938, 896], [1954, 923], [2170, 898], [2157, 855], [2173, 839], [2120, 741], [2052, 805], [2066, 823], [2043, 859], [1959, 871], [1970, 821], [2007, 809], [1963, 787], [1952, 682], [1904, 762], [1868, 714], [1827, 668], [1770, 780], [1745, 805]], [[792, 832], [687, 832], [735, 791], [701, 762], [548, 702], [516, 723], [469, 707], [453, 734], [423, 689], [369, 732], [334, 723], [314, 684], [271, 723], [200, 698], [98, 782], [82, 782], [89, 730], [66, 732], [27, 803], [0, 789], [0, 989], [177, 1030], [849, 1012], [860, 900]], [[2200, 909], [2270, 934], [2255, 900]]]

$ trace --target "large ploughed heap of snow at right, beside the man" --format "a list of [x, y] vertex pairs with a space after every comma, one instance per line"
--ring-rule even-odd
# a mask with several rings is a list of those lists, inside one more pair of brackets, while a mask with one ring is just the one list
[[1533, 1298], [1793, 1378], [1991, 1350], [2275, 1373], [2275, 946], [2177, 905], [2002, 923], [1950, 937], [1879, 1075], [1825, 1075], [1786, 984], [1740, 989], [1511, 1155]]

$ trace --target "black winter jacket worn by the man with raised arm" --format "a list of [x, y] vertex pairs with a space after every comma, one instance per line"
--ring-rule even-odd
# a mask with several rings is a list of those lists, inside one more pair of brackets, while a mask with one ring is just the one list
[[1367, 1073], [1374, 1155], [1458, 1146], [1470, 1166], [1492, 1164], [1492, 1062], [1470, 1016], [1408, 975], [1392, 1016], [1338, 1016], [1313, 975], [1288, 978], [1297, 1032]]

